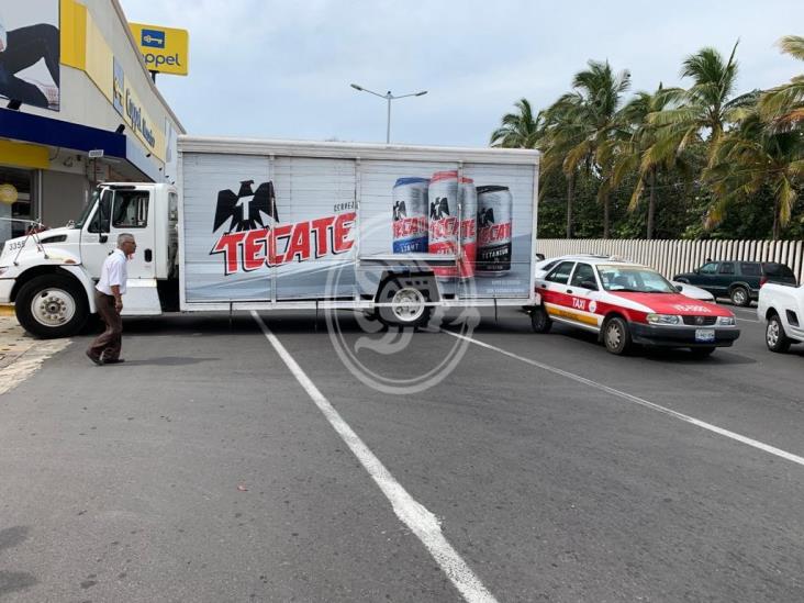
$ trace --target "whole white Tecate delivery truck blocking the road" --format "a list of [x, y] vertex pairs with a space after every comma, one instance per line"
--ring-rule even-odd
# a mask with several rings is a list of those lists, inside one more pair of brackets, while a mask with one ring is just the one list
[[65, 227], [7, 241], [0, 303], [77, 333], [118, 235], [124, 315], [351, 309], [402, 326], [434, 306], [528, 305], [534, 150], [183, 136], [178, 181], [100, 185]]

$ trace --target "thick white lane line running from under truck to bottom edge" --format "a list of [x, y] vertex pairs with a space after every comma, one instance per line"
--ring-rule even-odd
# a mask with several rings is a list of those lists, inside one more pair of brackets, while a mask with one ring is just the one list
[[438, 566], [444, 570], [444, 573], [449, 577], [455, 588], [464, 595], [464, 599], [471, 603], [495, 603], [496, 599], [483, 587], [480, 579], [474, 576], [474, 572], [472, 572], [466, 561], [458, 555], [458, 551], [444, 537], [438, 518], [427, 511], [424, 505], [416, 502], [394, 479], [391, 472], [386, 469], [380, 459], [362, 443], [324, 394], [321, 393], [319, 388], [304, 373], [288, 350], [284, 349], [284, 346], [279, 342], [277, 336], [263, 322], [260, 315], [253, 310], [252, 316], [257, 321], [266, 338], [293, 373], [293, 377], [297, 378], [301, 387], [304, 388], [313, 402], [315, 402], [315, 405], [319, 406], [319, 410], [365, 467], [366, 471], [371, 476], [371, 479], [380, 487], [382, 493], [391, 502], [393, 511], [400, 521], [411, 528], [418, 539], [422, 540]]

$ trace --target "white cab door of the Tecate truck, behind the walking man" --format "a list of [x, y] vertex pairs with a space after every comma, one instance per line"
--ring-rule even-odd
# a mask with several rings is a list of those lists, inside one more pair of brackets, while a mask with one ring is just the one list
[[92, 217], [81, 233], [81, 261], [94, 278], [100, 278], [107, 256], [118, 246], [118, 236], [134, 235], [137, 250], [129, 263], [129, 279], [153, 279], [155, 255], [155, 206], [153, 191], [146, 187], [107, 188]]

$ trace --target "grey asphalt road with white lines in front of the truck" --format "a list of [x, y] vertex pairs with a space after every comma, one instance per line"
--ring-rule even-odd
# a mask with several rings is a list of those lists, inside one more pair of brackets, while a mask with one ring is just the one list
[[0, 397], [0, 601], [802, 601], [804, 347], [736, 313], [703, 360], [514, 310], [485, 347], [350, 314], [338, 346], [131, 320], [122, 366], [78, 337]]

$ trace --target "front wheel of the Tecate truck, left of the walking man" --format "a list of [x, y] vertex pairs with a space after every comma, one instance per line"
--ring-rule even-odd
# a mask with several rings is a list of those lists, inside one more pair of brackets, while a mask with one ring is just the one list
[[83, 288], [62, 275], [42, 275], [23, 284], [14, 309], [22, 327], [43, 339], [75, 335], [89, 316]]

